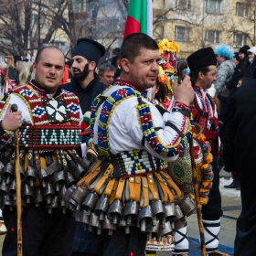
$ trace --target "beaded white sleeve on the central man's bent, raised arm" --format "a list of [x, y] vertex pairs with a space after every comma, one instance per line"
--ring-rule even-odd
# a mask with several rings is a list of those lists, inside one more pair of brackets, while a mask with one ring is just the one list
[[[175, 104], [175, 109], [180, 109]], [[182, 112], [170, 112], [168, 122], [161, 129], [156, 129], [150, 106], [141, 102], [137, 106], [138, 118], [144, 133], [144, 140], [157, 155], [171, 157], [179, 155], [191, 138], [193, 125], [192, 115], [189, 117]]]

